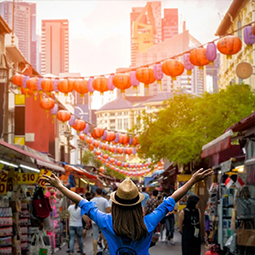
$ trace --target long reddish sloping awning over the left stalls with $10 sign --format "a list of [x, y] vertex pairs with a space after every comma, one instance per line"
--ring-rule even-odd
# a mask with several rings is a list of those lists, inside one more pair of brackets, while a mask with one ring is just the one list
[[[27, 147], [29, 148], [29, 147]], [[31, 148], [29, 148], [30, 151], [35, 151]], [[14, 162], [15, 160], [23, 161], [24, 164], [34, 164], [37, 166], [41, 166], [45, 169], [49, 169], [53, 172], [57, 173], [64, 173], [65, 169], [62, 166], [56, 165], [52, 163], [51, 161], [45, 160], [43, 157], [45, 157], [42, 153], [35, 151], [36, 155], [34, 153], [28, 152], [27, 150], [21, 149], [15, 145], [6, 143], [2, 140], [0, 140], [0, 155], [1, 156], [7, 156], [7, 157], [14, 157]], [[38, 156], [41, 155], [42, 157]], [[39, 163], [38, 163], [39, 162]]]

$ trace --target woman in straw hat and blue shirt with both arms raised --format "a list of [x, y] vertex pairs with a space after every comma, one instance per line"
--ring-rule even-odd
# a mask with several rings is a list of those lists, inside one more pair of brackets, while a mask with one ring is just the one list
[[[164, 199], [151, 214], [143, 217], [141, 202], [144, 196], [138, 191], [136, 185], [130, 180], [124, 180], [116, 192], [111, 193], [112, 213], [102, 213], [94, 202], [87, 202], [76, 193], [66, 189], [54, 174], [43, 175], [46, 181], [60, 190], [65, 196], [79, 203], [82, 214], [87, 214], [94, 220], [104, 233], [110, 254], [120, 254], [123, 251], [123, 243], [132, 248], [136, 255], [149, 255], [149, 246], [153, 231], [160, 220], [168, 211], [174, 209], [175, 203], [179, 201], [197, 182], [210, 177], [211, 170], [198, 170], [191, 179], [181, 188], [176, 190], [171, 197]], [[118, 251], [118, 253], [117, 253]], [[126, 254], [131, 254], [127, 253]]]

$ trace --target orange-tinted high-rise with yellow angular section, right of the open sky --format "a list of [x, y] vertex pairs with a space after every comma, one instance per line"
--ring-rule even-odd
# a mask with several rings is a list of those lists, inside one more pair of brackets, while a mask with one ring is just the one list
[[165, 9], [161, 17], [161, 2], [147, 2], [130, 13], [131, 66], [137, 66], [137, 55], [178, 34], [178, 9]]

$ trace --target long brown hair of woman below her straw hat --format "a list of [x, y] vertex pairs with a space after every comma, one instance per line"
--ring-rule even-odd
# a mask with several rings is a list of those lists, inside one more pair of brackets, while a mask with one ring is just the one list
[[148, 234], [143, 221], [141, 203], [134, 206], [121, 206], [112, 203], [112, 223], [115, 234], [122, 238], [136, 241]]

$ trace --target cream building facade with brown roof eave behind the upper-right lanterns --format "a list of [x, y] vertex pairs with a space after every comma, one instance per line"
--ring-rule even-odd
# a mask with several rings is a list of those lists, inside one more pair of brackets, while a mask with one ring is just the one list
[[[216, 36], [224, 36], [232, 33], [232, 31], [249, 24], [255, 20], [255, 2], [249, 0], [233, 0], [227, 13], [223, 17], [217, 31]], [[255, 77], [251, 75], [245, 80], [241, 80], [236, 75], [236, 66], [241, 62], [248, 62], [253, 66], [254, 73], [254, 59], [255, 59], [255, 44], [252, 47], [244, 43], [243, 29], [234, 33], [242, 40], [242, 49], [237, 54], [228, 59], [226, 55], [220, 55], [220, 69], [219, 69], [219, 89], [224, 89], [231, 84], [246, 83], [255, 88]]]

